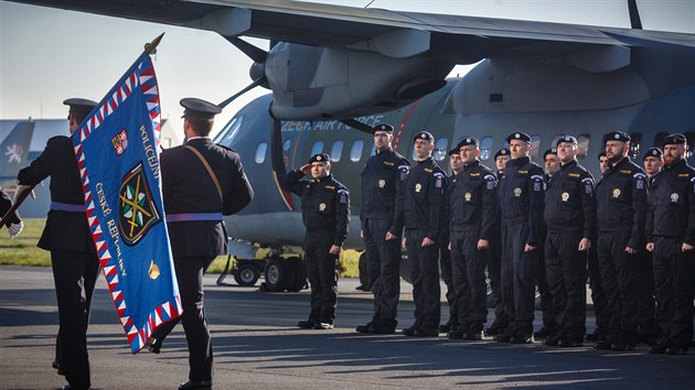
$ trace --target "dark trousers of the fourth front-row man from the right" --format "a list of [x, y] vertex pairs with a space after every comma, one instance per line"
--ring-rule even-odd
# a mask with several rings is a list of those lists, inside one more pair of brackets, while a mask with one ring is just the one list
[[538, 250], [524, 251], [528, 224], [502, 227], [502, 301], [509, 318], [507, 335], [531, 336], [535, 308]]

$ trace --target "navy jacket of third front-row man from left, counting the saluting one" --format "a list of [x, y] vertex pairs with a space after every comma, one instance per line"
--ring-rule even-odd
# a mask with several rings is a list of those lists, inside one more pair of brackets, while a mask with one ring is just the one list
[[[432, 158], [419, 161], [410, 169], [403, 183], [396, 205], [396, 227], [425, 230], [425, 237], [442, 239], [447, 224], [447, 175]], [[397, 234], [400, 235], [400, 230]]]

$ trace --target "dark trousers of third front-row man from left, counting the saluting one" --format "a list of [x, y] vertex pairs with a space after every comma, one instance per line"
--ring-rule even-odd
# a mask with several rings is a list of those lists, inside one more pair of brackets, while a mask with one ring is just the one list
[[439, 288], [439, 245], [423, 247], [426, 231], [406, 229], [406, 251], [408, 268], [413, 283], [413, 301], [415, 303], [415, 328], [435, 331], [439, 328], [441, 317]]

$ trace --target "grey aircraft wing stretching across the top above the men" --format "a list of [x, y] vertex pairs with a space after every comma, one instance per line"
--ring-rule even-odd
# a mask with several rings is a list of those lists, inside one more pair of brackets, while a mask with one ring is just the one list
[[[391, 57], [403, 58], [429, 52], [460, 64], [494, 56], [545, 58], [568, 52], [590, 54], [594, 58], [602, 54], [611, 58], [617, 54], [614, 47], [624, 46], [677, 45], [695, 48], [695, 34], [287, 0], [17, 2], [211, 30], [223, 36], [247, 35], [307, 45], [345, 46]], [[610, 71], [610, 67], [603, 71]]]

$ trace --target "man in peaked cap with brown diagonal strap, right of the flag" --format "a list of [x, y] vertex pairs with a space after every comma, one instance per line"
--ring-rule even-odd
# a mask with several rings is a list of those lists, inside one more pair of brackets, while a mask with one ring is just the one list
[[[181, 322], [189, 344], [189, 380], [179, 389], [212, 387], [213, 349], [204, 307], [203, 275], [215, 257], [227, 253], [223, 215], [248, 205], [254, 192], [239, 155], [212, 142], [209, 134], [216, 105], [181, 99], [185, 144], [164, 150], [160, 156], [162, 195], [174, 270], [183, 314]], [[154, 331], [148, 349], [159, 353], [179, 318]]]

